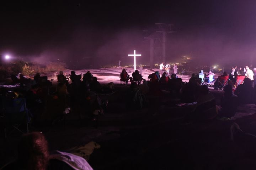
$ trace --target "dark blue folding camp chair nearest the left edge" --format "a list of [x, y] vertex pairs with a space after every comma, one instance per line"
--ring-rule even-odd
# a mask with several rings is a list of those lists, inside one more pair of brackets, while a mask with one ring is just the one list
[[[14, 128], [24, 133], [20, 126], [26, 125], [26, 132], [28, 133], [28, 122], [30, 118], [28, 116], [28, 109], [26, 107], [25, 98], [16, 98], [14, 100], [5, 101], [4, 103], [4, 115], [5, 115], [5, 137], [7, 137], [7, 129]], [[10, 132], [11, 133], [11, 132]]]

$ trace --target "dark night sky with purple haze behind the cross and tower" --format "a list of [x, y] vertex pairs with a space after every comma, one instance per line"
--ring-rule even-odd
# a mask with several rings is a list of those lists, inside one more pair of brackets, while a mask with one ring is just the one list
[[[147, 60], [145, 29], [173, 23], [167, 60], [191, 55], [198, 60], [251, 64], [256, 53], [256, 2], [176, 1], [6, 1], [0, 5], [0, 52], [38, 62], [129, 64], [134, 49]], [[130, 62], [132, 63], [132, 61]], [[248, 63], [248, 64], [249, 64]]]

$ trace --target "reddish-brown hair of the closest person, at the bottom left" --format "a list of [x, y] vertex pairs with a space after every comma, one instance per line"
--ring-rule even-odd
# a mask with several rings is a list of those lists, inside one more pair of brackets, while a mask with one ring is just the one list
[[48, 142], [40, 132], [22, 136], [18, 145], [18, 162], [27, 170], [46, 170], [49, 161]]

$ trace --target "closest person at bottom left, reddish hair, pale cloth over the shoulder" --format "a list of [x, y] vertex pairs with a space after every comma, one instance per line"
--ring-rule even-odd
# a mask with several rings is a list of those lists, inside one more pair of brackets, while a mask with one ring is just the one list
[[24, 134], [18, 144], [17, 159], [4, 167], [3, 170], [92, 170], [87, 161], [71, 153], [55, 151], [50, 154], [48, 142], [40, 132]]

